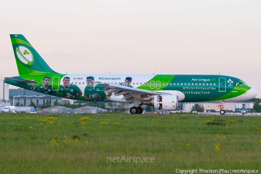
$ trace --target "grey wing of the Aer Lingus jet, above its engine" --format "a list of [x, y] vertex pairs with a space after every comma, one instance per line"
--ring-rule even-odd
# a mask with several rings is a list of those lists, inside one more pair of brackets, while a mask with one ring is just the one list
[[103, 84], [103, 83], [97, 83], [93, 81], [94, 86], [96, 85], [101, 85], [104, 86], [104, 93], [115, 93], [115, 96], [123, 95], [122, 100], [126, 99], [131, 99], [131, 98], [136, 98], [140, 100], [144, 100], [145, 98], [150, 98], [151, 96], [155, 95], [170, 95], [169, 93], [161, 93], [161, 92], [156, 92], [156, 91], [151, 91], [151, 90], [144, 90], [144, 89], [138, 89], [138, 88], [131, 88], [128, 86], [123, 86], [123, 85], [117, 85], [117, 84]]

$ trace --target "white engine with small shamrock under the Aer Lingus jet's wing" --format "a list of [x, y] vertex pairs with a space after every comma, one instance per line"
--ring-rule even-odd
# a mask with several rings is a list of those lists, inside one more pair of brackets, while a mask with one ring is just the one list
[[143, 104], [154, 106], [155, 109], [181, 110], [181, 103], [178, 103], [177, 95], [157, 95], [152, 99], [144, 100]]

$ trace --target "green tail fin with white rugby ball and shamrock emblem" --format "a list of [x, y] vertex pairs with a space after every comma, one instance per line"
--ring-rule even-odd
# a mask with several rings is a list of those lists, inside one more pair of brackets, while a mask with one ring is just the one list
[[54, 73], [23, 35], [10, 35], [19, 75]]

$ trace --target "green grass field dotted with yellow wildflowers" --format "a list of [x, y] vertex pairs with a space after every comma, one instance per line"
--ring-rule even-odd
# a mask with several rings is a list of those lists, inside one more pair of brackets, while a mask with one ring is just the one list
[[260, 118], [1, 113], [0, 173], [260, 170]]

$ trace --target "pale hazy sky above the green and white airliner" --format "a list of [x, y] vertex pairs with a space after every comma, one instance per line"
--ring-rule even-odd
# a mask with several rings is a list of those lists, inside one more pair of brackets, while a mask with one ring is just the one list
[[220, 72], [261, 97], [260, 9], [238, 0], [0, 1], [0, 73], [19, 75], [9, 34], [22, 34], [58, 73]]

